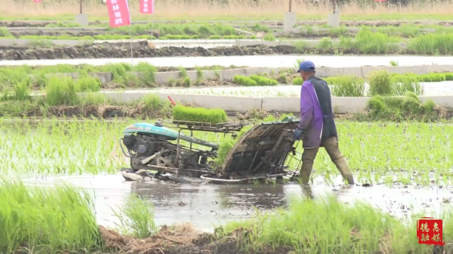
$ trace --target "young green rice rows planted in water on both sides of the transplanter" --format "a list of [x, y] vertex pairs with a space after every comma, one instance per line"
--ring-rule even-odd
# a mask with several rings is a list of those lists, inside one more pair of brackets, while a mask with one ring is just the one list
[[[388, 121], [400, 119], [400, 116], [396, 116], [398, 110], [401, 118], [405, 118], [401, 113], [403, 98], [394, 97], [390, 101], [384, 97], [380, 102], [382, 107], [389, 110], [387, 115], [376, 117], [369, 109], [367, 116], [362, 116], [367, 122], [340, 121], [337, 125], [339, 139], [343, 140], [340, 143], [340, 150], [348, 159], [357, 181], [390, 185], [394, 185], [394, 181], [404, 181], [404, 184], [409, 181], [413, 184], [429, 186], [432, 179], [428, 178], [426, 172], [436, 169], [430, 175], [440, 177], [439, 183], [442, 185], [451, 184], [452, 179], [442, 177], [449, 174], [449, 170], [453, 168], [453, 162], [449, 160], [453, 156], [451, 152], [453, 143], [445, 138], [453, 135], [453, 129], [449, 128], [449, 124], [422, 123], [420, 121], [425, 121], [423, 117], [427, 115], [423, 111], [414, 115], [413, 119], [409, 119], [417, 122], [400, 121], [394, 124]], [[166, 105], [171, 111], [169, 102]], [[428, 107], [432, 111], [434, 120], [438, 119], [436, 106]], [[22, 112], [23, 107], [28, 107], [28, 104], [21, 104], [21, 107]], [[8, 108], [12, 110], [9, 105]], [[171, 114], [168, 115], [170, 116]], [[258, 116], [251, 117], [258, 119]], [[154, 123], [155, 119], [140, 121]], [[121, 167], [128, 167], [117, 143], [118, 138], [122, 137], [122, 130], [130, 123], [137, 123], [137, 119], [115, 121], [44, 119], [33, 123], [33, 126], [32, 123], [23, 121], [2, 122], [0, 130], [4, 135], [0, 135], [0, 144], [5, 145], [0, 146], [0, 159], [3, 162], [0, 164], [0, 172], [6, 176], [8, 174], [117, 174], [117, 170]], [[81, 131], [84, 135], [80, 135]], [[183, 133], [190, 135], [189, 131], [183, 131]], [[195, 138], [213, 143], [222, 143], [225, 139], [223, 133], [194, 132], [193, 134]], [[303, 152], [302, 143], [299, 143], [296, 151]], [[74, 156], [79, 159], [74, 160]], [[294, 160], [288, 163], [290, 169], [297, 167]], [[323, 179], [323, 182], [328, 185], [335, 184], [329, 179], [339, 176], [336, 166], [331, 164], [325, 151], [320, 150], [314, 162], [314, 169], [316, 171], [312, 174], [313, 178]], [[402, 176], [398, 175], [401, 172], [407, 173], [408, 178], [402, 180]], [[389, 177], [391, 181], [386, 182]]]

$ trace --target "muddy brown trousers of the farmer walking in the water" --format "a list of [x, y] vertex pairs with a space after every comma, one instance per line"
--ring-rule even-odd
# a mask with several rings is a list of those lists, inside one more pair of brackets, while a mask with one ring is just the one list
[[[329, 157], [331, 157], [332, 162], [336, 165], [338, 171], [340, 171], [343, 179], [347, 179], [349, 184], [354, 184], [354, 178], [346, 163], [345, 157], [340, 152], [338, 148], [338, 140], [336, 137], [331, 137], [326, 139], [323, 142], [323, 147], [326, 149]], [[319, 148], [307, 148], [302, 153], [302, 169], [300, 171], [300, 176], [302, 178], [302, 184], [309, 183], [311, 169], [313, 168], [314, 159], [318, 153]]]

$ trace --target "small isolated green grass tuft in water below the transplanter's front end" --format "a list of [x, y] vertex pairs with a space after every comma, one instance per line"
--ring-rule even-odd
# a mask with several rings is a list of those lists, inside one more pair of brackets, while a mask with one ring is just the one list
[[158, 231], [151, 205], [137, 195], [131, 195], [120, 212], [113, 212], [120, 220], [117, 226], [123, 235], [147, 238]]

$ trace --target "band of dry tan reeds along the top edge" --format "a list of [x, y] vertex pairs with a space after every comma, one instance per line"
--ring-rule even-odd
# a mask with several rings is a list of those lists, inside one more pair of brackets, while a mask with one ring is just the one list
[[[79, 1], [50, 0], [45, 3], [35, 4], [33, 1], [28, 0], [2, 0], [0, 3], [2, 6], [8, 6], [1, 13], [1, 16], [8, 20], [25, 18], [28, 20], [36, 18], [74, 20], [74, 15], [79, 13]], [[156, 13], [153, 14], [153, 20], [282, 20], [283, 13], [288, 11], [287, 0], [231, 0], [222, 1], [222, 4], [220, 1], [168, 0], [156, 1], [155, 3]], [[292, 1], [292, 11], [297, 13], [299, 20], [326, 20], [327, 14], [331, 13], [329, 1], [321, 1], [319, 6], [307, 3], [308, 1]], [[139, 13], [138, 4], [138, 1], [130, 1], [130, 11], [133, 20], [149, 20], [149, 15]], [[422, 4], [418, 1], [408, 4], [405, 8], [397, 6], [386, 8], [384, 4], [374, 4], [374, 1], [369, 5], [364, 7], [364, 3], [359, 1], [343, 4], [340, 8], [342, 19], [419, 20], [420, 16], [425, 19], [436, 19], [442, 18], [442, 16], [450, 16], [453, 9], [453, 5], [449, 3]], [[99, 0], [84, 1], [83, 11], [88, 14], [88, 17], [95, 20], [107, 20], [108, 18], [107, 8]]]

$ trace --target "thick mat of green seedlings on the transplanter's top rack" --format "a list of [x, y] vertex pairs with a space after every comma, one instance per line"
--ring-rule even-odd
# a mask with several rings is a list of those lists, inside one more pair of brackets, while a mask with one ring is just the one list
[[185, 107], [180, 104], [173, 107], [173, 119], [212, 124], [224, 123], [227, 121], [226, 112], [223, 109]]

